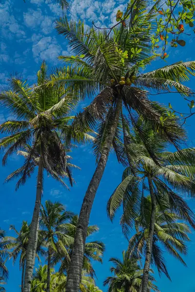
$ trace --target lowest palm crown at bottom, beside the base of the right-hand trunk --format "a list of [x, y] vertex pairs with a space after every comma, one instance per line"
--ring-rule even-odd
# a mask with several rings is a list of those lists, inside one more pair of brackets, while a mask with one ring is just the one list
[[[107, 277], [104, 286], [108, 285], [109, 292], [139, 292], [142, 281], [143, 270], [137, 264], [137, 258], [130, 258], [129, 252], [122, 252], [122, 260], [112, 257], [110, 260], [115, 266], [110, 268], [114, 276]], [[150, 270], [150, 272], [153, 272]], [[149, 274], [147, 292], [159, 292], [156, 285], [153, 284], [154, 277]]]

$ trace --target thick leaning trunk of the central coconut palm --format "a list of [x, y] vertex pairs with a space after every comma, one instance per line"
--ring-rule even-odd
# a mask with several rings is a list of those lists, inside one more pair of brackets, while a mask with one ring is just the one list
[[102, 150], [100, 159], [98, 161], [97, 168], [91, 179], [91, 182], [89, 183], [89, 186], [87, 188], [87, 191], [86, 191], [86, 194], [81, 206], [74, 246], [72, 250], [71, 262], [68, 269], [66, 292], [78, 292], [79, 290], [79, 284], [80, 284], [81, 274], [82, 274], [84, 246], [85, 246], [85, 240], [87, 236], [87, 227], [89, 224], [89, 217], [90, 217], [92, 205], [96, 196], [96, 192], [98, 190], [98, 186], [103, 176], [103, 172], [108, 160], [108, 155], [109, 155], [110, 148], [113, 142], [113, 138], [115, 136], [119, 114], [121, 110], [121, 105], [122, 105], [122, 100], [118, 98], [116, 110], [115, 110], [115, 118], [114, 118], [112, 127], [110, 129], [110, 133], [107, 137], [105, 146]]

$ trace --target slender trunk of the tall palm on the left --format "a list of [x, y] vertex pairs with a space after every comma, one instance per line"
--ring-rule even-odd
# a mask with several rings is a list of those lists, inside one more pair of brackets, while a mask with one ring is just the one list
[[24, 276], [24, 292], [30, 292], [31, 289], [31, 280], [33, 275], [33, 269], [35, 265], [35, 256], [37, 250], [38, 242], [38, 232], [39, 232], [39, 210], [42, 196], [42, 183], [43, 183], [43, 159], [40, 155], [39, 158], [39, 170], [37, 177], [37, 193], [35, 208], [33, 212], [33, 218], [30, 226], [30, 235], [28, 241], [28, 248], [26, 253], [26, 268]]

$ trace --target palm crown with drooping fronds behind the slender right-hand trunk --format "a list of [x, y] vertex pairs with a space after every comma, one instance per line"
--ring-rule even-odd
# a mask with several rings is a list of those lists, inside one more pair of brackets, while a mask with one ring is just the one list
[[[150, 196], [143, 199], [141, 206], [141, 215], [135, 219], [136, 234], [129, 240], [130, 256], [141, 256], [146, 252], [147, 239], [149, 235], [150, 217], [151, 217], [151, 198]], [[165, 260], [163, 257], [162, 246], [167, 252], [175, 256], [184, 265], [183, 258], [179, 253], [186, 255], [187, 246], [185, 241], [189, 241], [187, 233], [190, 233], [189, 226], [183, 222], [180, 216], [172, 213], [168, 208], [166, 202], [156, 206], [156, 218], [152, 244], [151, 263], [154, 263], [158, 269], [159, 274], [164, 273], [171, 280]], [[160, 245], [158, 245], [158, 243]]]

